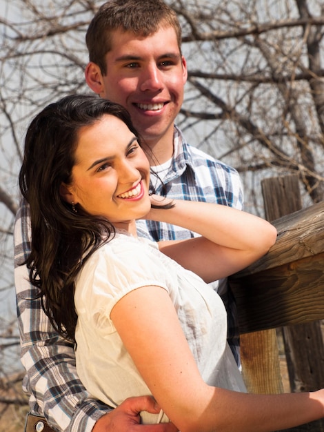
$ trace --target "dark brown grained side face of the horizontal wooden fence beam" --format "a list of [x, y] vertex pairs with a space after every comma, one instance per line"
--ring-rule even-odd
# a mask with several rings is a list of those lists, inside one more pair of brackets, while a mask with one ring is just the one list
[[241, 333], [324, 319], [324, 253], [230, 281]]

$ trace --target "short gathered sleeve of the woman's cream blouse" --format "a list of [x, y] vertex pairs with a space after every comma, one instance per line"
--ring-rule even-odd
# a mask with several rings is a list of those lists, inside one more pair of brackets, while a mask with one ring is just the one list
[[122, 297], [142, 286], [160, 286], [171, 295], [170, 279], [176, 280], [178, 268], [172, 263], [168, 266], [171, 259], [148, 239], [112, 239], [92, 255], [77, 278], [74, 302], [79, 317], [95, 320], [103, 334], [114, 333], [110, 313]]

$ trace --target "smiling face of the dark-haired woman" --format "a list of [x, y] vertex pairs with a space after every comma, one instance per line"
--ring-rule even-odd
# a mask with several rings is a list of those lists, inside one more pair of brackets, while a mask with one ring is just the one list
[[150, 165], [128, 126], [104, 115], [79, 130], [72, 184], [65, 199], [129, 230], [150, 210]]

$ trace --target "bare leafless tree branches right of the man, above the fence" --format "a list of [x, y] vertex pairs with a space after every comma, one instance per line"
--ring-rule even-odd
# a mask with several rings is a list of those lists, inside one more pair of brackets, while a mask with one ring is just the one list
[[[239, 170], [252, 211], [260, 211], [265, 176], [297, 173], [305, 205], [321, 201], [321, 2], [185, 3], [172, 3], [183, 18], [184, 46], [192, 46], [185, 126], [194, 125], [198, 144]], [[206, 125], [208, 135], [201, 133]]]

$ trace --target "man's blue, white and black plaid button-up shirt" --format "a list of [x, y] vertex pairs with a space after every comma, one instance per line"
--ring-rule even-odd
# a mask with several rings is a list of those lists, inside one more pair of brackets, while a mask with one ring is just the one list
[[[174, 161], [164, 183], [168, 197], [242, 208], [243, 193], [236, 170], [188, 146], [177, 128], [174, 129]], [[162, 186], [159, 186], [156, 193], [161, 190]], [[196, 236], [183, 228], [152, 221], [139, 221], [138, 231], [139, 235], [155, 240]], [[23, 390], [30, 395], [30, 411], [45, 416], [58, 431], [90, 432], [94, 423], [110, 408], [93, 400], [85, 391], [77, 377], [73, 344], [54, 331], [43, 313], [41, 301], [33, 298], [34, 288], [28, 280], [26, 266], [19, 266], [30, 253], [30, 213], [26, 202], [21, 203], [17, 213], [14, 245], [21, 362], [26, 369]], [[239, 362], [236, 308], [226, 284], [221, 285], [229, 312], [229, 342]]]

